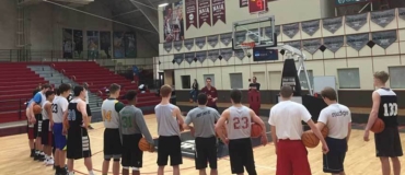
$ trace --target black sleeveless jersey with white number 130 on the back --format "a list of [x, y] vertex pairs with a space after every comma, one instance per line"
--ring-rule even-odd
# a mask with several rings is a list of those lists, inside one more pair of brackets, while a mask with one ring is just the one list
[[378, 89], [375, 92], [380, 94], [379, 118], [384, 121], [386, 127], [398, 126], [398, 105], [395, 92], [384, 88]]

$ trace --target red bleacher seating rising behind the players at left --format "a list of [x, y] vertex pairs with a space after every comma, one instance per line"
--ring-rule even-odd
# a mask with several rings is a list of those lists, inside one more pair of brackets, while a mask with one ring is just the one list
[[[137, 84], [130, 82], [96, 62], [7, 62], [0, 65], [0, 124], [25, 119], [24, 103], [32, 97], [33, 90], [39, 84], [48, 83], [35, 71], [27, 68], [31, 65], [48, 65], [76, 83], [90, 84], [90, 92], [96, 93], [103, 100], [107, 94], [103, 91], [112, 83], [121, 85], [120, 96], [128, 90], [138, 90]], [[127, 103], [121, 100], [123, 103]], [[154, 106], [160, 102], [160, 97], [149, 91], [139, 93], [138, 107]]]

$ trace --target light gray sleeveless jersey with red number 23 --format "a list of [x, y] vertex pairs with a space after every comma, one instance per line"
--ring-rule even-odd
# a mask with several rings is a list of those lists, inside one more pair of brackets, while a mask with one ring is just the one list
[[230, 116], [227, 124], [228, 139], [251, 138], [252, 117], [246, 106], [228, 108]]

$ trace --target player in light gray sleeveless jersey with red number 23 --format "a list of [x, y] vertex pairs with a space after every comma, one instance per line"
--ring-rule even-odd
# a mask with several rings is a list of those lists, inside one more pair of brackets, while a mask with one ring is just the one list
[[[231, 91], [232, 106], [225, 109], [216, 125], [216, 131], [222, 142], [228, 143], [232, 174], [256, 175], [255, 161], [251, 140], [252, 121], [262, 127], [262, 144], [267, 144], [266, 127], [263, 120], [248, 107], [242, 105], [242, 92]], [[227, 122], [228, 138], [222, 133], [222, 126]]]

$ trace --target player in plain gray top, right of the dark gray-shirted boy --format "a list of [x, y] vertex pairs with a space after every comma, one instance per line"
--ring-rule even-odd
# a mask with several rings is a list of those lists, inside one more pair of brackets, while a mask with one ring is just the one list
[[177, 106], [170, 103], [172, 88], [167, 84], [160, 89], [162, 101], [154, 107], [154, 114], [158, 120], [158, 175], [164, 174], [164, 166], [173, 166], [173, 175], [180, 175], [180, 164], [183, 164], [181, 149], [181, 130], [178, 125], [183, 125], [183, 116]]

